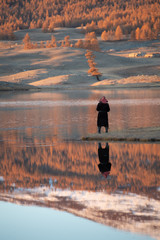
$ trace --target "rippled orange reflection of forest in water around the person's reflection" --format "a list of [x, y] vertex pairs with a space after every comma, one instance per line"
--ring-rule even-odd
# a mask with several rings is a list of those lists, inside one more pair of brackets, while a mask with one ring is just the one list
[[[81, 190], [147, 193], [159, 186], [158, 144], [109, 143], [112, 171], [111, 178], [104, 180], [97, 167], [97, 143], [61, 142], [53, 146], [53, 139], [46, 138], [34, 139], [27, 147], [23, 138], [18, 141], [21, 147], [5, 141], [0, 145], [0, 176], [6, 188], [12, 183], [17, 187], [49, 185], [50, 178], [56, 187]], [[2, 183], [0, 186], [3, 188]]]

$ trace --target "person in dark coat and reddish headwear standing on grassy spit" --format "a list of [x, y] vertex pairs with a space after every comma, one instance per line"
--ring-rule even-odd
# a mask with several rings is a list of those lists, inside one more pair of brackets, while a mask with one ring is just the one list
[[108, 104], [108, 100], [104, 96], [99, 100], [96, 110], [98, 111], [97, 117], [98, 133], [101, 133], [101, 127], [105, 127], [106, 132], [108, 132], [109, 128], [108, 112], [110, 111], [110, 107]]

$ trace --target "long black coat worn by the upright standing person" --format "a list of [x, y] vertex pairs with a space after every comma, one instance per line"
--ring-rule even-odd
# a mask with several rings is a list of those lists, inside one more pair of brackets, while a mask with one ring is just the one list
[[108, 125], [108, 112], [110, 111], [109, 104], [99, 102], [96, 110], [98, 111], [97, 126], [109, 127]]

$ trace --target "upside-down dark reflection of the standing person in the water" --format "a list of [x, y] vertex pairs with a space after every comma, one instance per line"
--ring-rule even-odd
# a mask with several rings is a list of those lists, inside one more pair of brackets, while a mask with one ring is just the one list
[[101, 143], [98, 143], [98, 168], [102, 175], [107, 178], [111, 171], [111, 163], [109, 162], [109, 144], [106, 143], [105, 148], [102, 148]]

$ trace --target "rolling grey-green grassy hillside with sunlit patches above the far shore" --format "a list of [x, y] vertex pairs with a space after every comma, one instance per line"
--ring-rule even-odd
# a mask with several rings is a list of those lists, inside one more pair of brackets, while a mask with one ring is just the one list
[[[22, 40], [26, 33], [37, 48], [24, 49]], [[99, 39], [100, 51], [94, 51], [94, 54], [102, 76], [101, 81], [97, 81], [96, 77], [87, 73], [86, 50], [74, 46], [80, 39], [85, 40], [80, 29], [56, 28], [54, 34], [30, 29], [16, 31], [15, 35], [16, 41], [0, 42], [1, 90], [160, 86], [160, 58], [154, 56], [160, 52], [157, 40], [114, 43]], [[40, 46], [41, 41], [50, 43], [52, 36], [57, 41], [56, 47]], [[73, 47], [62, 46], [66, 36], [70, 37]]]

